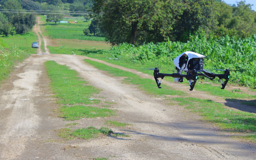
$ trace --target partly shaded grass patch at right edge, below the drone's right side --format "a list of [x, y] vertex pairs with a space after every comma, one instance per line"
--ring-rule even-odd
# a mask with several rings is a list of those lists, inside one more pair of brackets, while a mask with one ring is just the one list
[[203, 121], [214, 123], [224, 131], [256, 132], [256, 115], [253, 113], [235, 111], [208, 99], [186, 97], [172, 100], [179, 102], [181, 106], [186, 106], [185, 108], [192, 112], [200, 114], [203, 116]]

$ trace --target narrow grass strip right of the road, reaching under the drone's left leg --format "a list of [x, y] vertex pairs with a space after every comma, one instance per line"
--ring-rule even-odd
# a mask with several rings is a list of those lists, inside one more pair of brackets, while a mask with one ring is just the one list
[[123, 71], [117, 68], [112, 68], [104, 64], [90, 61], [90, 60], [84, 60], [84, 61], [86, 63], [93, 65], [95, 68], [99, 70], [107, 71], [109, 74], [111, 74], [114, 77], [126, 77], [124, 79], [125, 83], [136, 85], [148, 94], [153, 94], [153, 95], [184, 95], [185, 94], [182, 91], [174, 90], [170, 86], [166, 86], [164, 84], [163, 84], [163, 87], [165, 89], [161, 90], [158, 87], [156, 87], [156, 84], [155, 84], [156, 82], [154, 80], [139, 78], [138, 75], [133, 74], [131, 72]]

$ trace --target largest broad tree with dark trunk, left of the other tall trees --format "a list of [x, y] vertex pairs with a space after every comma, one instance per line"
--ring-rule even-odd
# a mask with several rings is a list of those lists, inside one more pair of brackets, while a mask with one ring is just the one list
[[183, 11], [176, 0], [94, 0], [100, 28], [112, 45], [122, 42], [142, 44], [167, 40]]

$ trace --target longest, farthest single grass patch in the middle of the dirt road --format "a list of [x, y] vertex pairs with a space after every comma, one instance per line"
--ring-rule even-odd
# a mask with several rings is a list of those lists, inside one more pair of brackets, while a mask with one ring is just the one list
[[45, 62], [50, 86], [58, 104], [98, 104], [100, 100], [89, 98], [98, 94], [100, 89], [88, 85], [87, 81], [78, 77], [78, 73], [67, 66], [54, 61]]

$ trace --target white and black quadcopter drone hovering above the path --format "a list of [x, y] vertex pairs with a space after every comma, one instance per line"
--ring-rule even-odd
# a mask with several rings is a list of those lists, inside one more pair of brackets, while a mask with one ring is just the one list
[[[224, 71], [224, 74], [210, 73], [203, 69], [204, 67], [203, 58], [205, 58], [205, 56], [201, 54], [187, 51], [180, 54], [173, 61], [174, 65], [176, 66], [175, 69], [178, 71], [177, 73], [173, 73], [173, 74], [159, 73], [159, 69], [155, 68], [154, 78], [157, 82], [158, 88], [161, 88], [160, 85], [164, 77], [173, 77], [175, 82], [183, 82], [184, 78], [186, 78], [189, 81], [189, 85], [190, 85], [189, 90], [193, 90], [197, 82], [198, 76], [204, 76], [209, 78], [210, 80], [213, 80], [216, 77], [218, 77], [221, 81], [221, 85], [222, 85], [221, 89], [224, 89], [230, 78], [229, 70], [226, 69]], [[186, 72], [184, 75], [182, 74], [183, 71]], [[158, 78], [161, 78], [160, 82]], [[222, 82], [222, 79], [224, 79], [225, 81]]]

